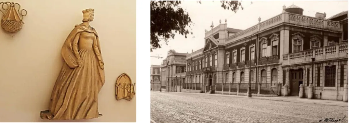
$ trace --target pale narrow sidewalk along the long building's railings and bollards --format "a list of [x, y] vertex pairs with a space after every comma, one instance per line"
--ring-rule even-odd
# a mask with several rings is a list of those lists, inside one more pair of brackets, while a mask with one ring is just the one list
[[[201, 93], [204, 94], [204, 93]], [[279, 96], [279, 97], [247, 97], [247, 96], [237, 96], [237, 95], [222, 95], [222, 94], [205, 94], [214, 96], [227, 96], [227, 97], [239, 97], [239, 98], [250, 98], [250, 99], [265, 99], [265, 100], [275, 100], [275, 101], [285, 101], [285, 102], [295, 102], [295, 103], [312, 103], [321, 105], [332, 105], [332, 106], [343, 106], [348, 107], [348, 102], [343, 102], [339, 100], [325, 100], [325, 99], [307, 99], [299, 98], [298, 96]]]

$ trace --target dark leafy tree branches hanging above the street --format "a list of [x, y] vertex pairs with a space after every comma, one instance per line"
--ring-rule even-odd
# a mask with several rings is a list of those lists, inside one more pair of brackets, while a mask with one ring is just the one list
[[[197, 1], [201, 4], [201, 1]], [[215, 2], [215, 1], [213, 1]], [[239, 1], [220, 1], [224, 10], [237, 10], [244, 8]], [[165, 44], [169, 42], [176, 34], [193, 34], [189, 13], [180, 7], [181, 1], [150, 1], [150, 52], [161, 48], [160, 41]]]

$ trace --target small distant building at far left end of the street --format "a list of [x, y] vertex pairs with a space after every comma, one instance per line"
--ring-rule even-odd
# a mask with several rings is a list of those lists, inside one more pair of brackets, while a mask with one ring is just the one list
[[161, 83], [160, 83], [160, 71], [161, 67], [160, 65], [150, 65], [150, 89], [151, 90], [160, 90]]

